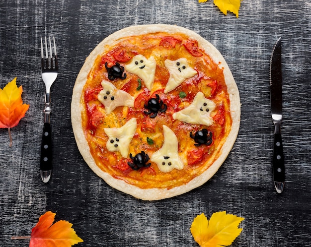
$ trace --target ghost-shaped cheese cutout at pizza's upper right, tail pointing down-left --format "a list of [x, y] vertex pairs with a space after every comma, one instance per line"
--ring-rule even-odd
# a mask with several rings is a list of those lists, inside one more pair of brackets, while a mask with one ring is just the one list
[[164, 93], [172, 91], [178, 87], [185, 79], [197, 74], [197, 71], [189, 67], [185, 58], [177, 59], [175, 61], [165, 60], [164, 64], [169, 72], [169, 78], [166, 83]]

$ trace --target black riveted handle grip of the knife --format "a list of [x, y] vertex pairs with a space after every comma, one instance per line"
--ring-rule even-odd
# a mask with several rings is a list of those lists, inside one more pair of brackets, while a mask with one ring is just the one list
[[285, 165], [281, 133], [274, 134], [273, 180], [274, 182], [285, 181]]

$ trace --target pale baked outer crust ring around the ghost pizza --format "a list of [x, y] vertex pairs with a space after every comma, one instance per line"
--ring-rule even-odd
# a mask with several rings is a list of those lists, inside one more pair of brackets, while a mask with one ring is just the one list
[[[107, 52], [106, 51], [107, 45], [111, 46], [117, 44], [120, 41], [122, 41], [122, 38], [126, 38], [132, 35], [142, 35], [153, 32], [184, 33], [191, 39], [197, 40], [198, 46], [204, 49], [205, 52], [214, 60], [214, 62], [216, 63], [220, 62], [219, 66], [224, 68], [225, 81], [227, 84], [228, 93], [230, 94], [230, 102], [231, 102], [230, 110], [233, 123], [231, 131], [227, 137], [227, 140], [222, 147], [219, 158], [205, 172], [203, 172], [198, 177], [195, 177], [189, 183], [173, 187], [170, 189], [160, 189], [160, 188], [142, 189], [134, 185], [129, 185], [125, 183], [123, 180], [115, 179], [108, 173], [105, 173], [102, 170], [100, 170], [96, 165], [93, 157], [91, 156], [90, 149], [85, 139], [81, 124], [82, 121], [81, 111], [83, 109], [83, 105], [81, 104], [82, 89], [87, 80], [87, 75], [89, 71], [92, 69], [93, 63], [97, 58], [97, 56], [99, 54]], [[76, 83], [73, 89], [71, 114], [72, 114], [71, 116], [72, 126], [76, 142], [78, 145], [78, 149], [85, 162], [93, 170], [93, 172], [95, 172], [95, 174], [101, 177], [108, 185], [125, 193], [128, 193], [136, 198], [140, 198], [143, 200], [159, 200], [183, 194], [200, 185], [203, 185], [218, 171], [218, 169], [220, 168], [220, 166], [223, 164], [228, 154], [230, 153], [238, 134], [240, 124], [240, 98], [238, 88], [235, 84], [233, 75], [230, 71], [227, 62], [225, 61], [221, 53], [203, 37], [201, 37], [200, 35], [189, 29], [180, 26], [166, 25], [166, 24], [139, 25], [127, 27], [109, 35], [102, 42], [100, 42], [95, 47], [95, 49], [90, 53], [90, 55], [86, 58], [80, 72], [78, 73], [78, 77], [76, 79]]]

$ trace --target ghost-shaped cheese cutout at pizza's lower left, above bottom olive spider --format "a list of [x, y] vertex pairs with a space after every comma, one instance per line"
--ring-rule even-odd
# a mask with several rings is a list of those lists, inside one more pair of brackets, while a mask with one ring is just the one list
[[109, 139], [106, 143], [108, 151], [119, 151], [123, 158], [127, 158], [130, 150], [130, 142], [136, 132], [137, 121], [130, 119], [122, 127], [104, 128]]

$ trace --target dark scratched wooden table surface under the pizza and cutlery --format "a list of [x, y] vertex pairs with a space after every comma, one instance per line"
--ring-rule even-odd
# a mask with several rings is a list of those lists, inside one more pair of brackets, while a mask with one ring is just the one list
[[[40, 215], [73, 223], [77, 246], [198, 246], [190, 233], [198, 214], [244, 217], [234, 247], [311, 246], [311, 4], [309, 0], [244, 0], [239, 18], [210, 0], [0, 0], [0, 88], [17, 76], [26, 116], [0, 129], [0, 246], [28, 246]], [[111, 188], [79, 154], [71, 96], [85, 58], [109, 34], [137, 24], [177, 24], [215, 45], [229, 64], [241, 99], [239, 134], [216, 175], [201, 187], [161, 201], [141, 201]], [[44, 84], [41, 36], [54, 35], [59, 76], [52, 86], [54, 173], [39, 175]], [[282, 37], [282, 135], [286, 187], [272, 181], [273, 124], [269, 60]]]

